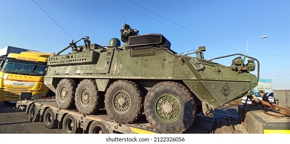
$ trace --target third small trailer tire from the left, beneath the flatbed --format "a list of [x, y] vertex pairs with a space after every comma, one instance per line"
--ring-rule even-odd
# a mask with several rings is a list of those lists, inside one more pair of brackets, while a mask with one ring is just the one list
[[65, 115], [62, 122], [62, 131], [64, 134], [80, 134], [81, 128], [78, 128], [77, 120], [72, 115]]

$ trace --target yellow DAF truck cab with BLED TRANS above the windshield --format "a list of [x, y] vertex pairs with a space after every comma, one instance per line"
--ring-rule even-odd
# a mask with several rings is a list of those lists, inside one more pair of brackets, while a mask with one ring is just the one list
[[21, 93], [34, 98], [53, 96], [43, 83], [47, 59], [51, 55], [33, 50], [9, 53], [1, 62], [0, 102], [16, 103]]

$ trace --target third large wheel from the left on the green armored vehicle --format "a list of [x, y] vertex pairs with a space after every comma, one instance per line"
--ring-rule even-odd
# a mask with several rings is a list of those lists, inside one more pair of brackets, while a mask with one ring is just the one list
[[143, 112], [143, 93], [132, 81], [115, 81], [105, 94], [105, 109], [113, 120], [132, 123]]

